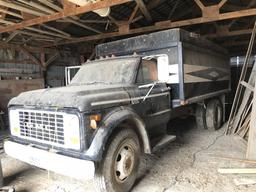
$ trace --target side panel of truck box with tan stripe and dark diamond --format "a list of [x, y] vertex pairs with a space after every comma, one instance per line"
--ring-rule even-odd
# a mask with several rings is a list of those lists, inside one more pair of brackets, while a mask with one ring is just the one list
[[184, 99], [211, 97], [230, 89], [229, 60], [225, 54], [184, 44]]

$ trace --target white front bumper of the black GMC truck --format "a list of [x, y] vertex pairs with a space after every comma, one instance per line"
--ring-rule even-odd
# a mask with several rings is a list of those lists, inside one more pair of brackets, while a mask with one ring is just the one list
[[95, 165], [93, 161], [59, 155], [12, 141], [6, 141], [4, 149], [7, 155], [15, 159], [49, 171], [79, 180], [88, 180], [94, 177]]

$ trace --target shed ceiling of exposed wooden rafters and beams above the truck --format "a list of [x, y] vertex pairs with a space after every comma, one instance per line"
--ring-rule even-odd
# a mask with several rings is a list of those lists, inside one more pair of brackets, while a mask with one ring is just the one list
[[59, 47], [182, 27], [241, 52], [255, 7], [255, 0], [0, 0], [0, 34], [4, 43]]

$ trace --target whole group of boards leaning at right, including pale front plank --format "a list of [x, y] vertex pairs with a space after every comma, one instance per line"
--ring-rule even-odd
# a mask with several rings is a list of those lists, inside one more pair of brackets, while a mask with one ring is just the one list
[[248, 141], [247, 159], [256, 160], [256, 65], [248, 69], [256, 36], [256, 22], [238, 82], [228, 121], [227, 134], [237, 134]]

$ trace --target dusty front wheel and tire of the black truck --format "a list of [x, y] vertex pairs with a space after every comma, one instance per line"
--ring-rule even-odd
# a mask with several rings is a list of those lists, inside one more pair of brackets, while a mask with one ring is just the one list
[[96, 188], [100, 192], [130, 191], [139, 168], [138, 136], [132, 129], [124, 128], [110, 139], [103, 161], [96, 168]]

